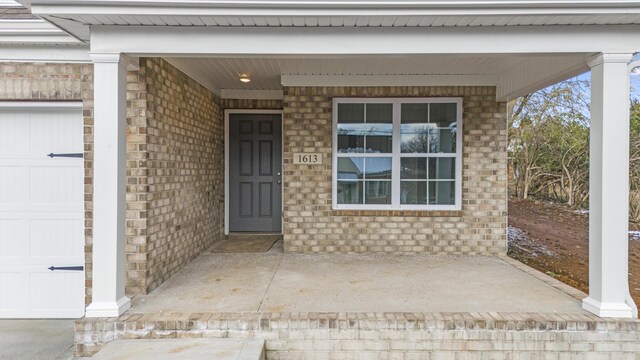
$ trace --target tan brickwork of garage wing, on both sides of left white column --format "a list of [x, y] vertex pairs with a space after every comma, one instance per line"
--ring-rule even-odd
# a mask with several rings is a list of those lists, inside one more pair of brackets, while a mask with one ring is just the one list
[[[93, 66], [0, 64], [0, 100], [82, 101], [86, 303], [92, 290]], [[126, 293], [151, 291], [224, 228], [220, 100], [160, 59], [127, 75]]]

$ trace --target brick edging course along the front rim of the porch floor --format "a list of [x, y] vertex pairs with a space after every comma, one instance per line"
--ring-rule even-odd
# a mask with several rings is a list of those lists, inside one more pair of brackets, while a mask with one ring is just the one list
[[83, 318], [76, 332], [135, 330], [509, 330], [638, 331], [638, 319], [554, 313], [148, 313]]

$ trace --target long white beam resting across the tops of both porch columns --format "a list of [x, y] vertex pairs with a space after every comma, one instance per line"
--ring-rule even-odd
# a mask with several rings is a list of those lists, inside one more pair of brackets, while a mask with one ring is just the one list
[[[636, 52], [640, 25], [264, 28], [92, 26], [92, 52], [138, 56]], [[189, 39], [190, 41], [184, 41]]]

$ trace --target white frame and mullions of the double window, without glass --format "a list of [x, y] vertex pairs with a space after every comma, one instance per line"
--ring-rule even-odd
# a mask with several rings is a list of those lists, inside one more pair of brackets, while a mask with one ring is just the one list
[[[371, 153], [340, 153], [338, 155], [338, 104], [393, 104], [393, 145], [390, 154]], [[457, 137], [455, 157], [451, 154], [441, 153], [405, 153], [400, 151], [400, 124], [401, 105], [408, 103], [455, 103], [457, 115]], [[462, 98], [461, 97], [428, 97], [428, 98], [333, 98], [332, 108], [332, 181], [331, 181], [331, 203], [334, 210], [433, 210], [457, 211], [462, 209], [462, 142], [463, 142], [463, 121], [462, 121]], [[338, 204], [338, 158], [339, 157], [381, 157], [388, 155], [392, 158], [391, 165], [391, 204]], [[453, 205], [415, 205], [400, 204], [400, 159], [401, 157], [451, 157], [456, 159], [455, 165], [455, 204]]]

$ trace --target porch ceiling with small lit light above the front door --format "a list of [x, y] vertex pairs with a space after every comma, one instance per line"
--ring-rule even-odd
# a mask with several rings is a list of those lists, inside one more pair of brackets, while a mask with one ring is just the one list
[[[278, 97], [284, 86], [499, 86], [515, 73], [545, 78], [549, 70], [584, 71], [589, 54], [571, 55], [369, 55], [316, 57], [167, 57], [223, 97]], [[239, 81], [248, 74], [250, 83]], [[563, 73], [563, 76], [566, 76]], [[262, 91], [262, 93], [256, 90]], [[266, 92], [265, 92], [266, 90]], [[274, 91], [276, 90], [276, 91]], [[503, 91], [504, 92], [504, 91]], [[232, 94], [232, 95], [231, 95]], [[256, 95], [262, 94], [262, 95]], [[265, 95], [268, 94], [268, 95]]]

